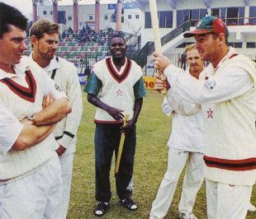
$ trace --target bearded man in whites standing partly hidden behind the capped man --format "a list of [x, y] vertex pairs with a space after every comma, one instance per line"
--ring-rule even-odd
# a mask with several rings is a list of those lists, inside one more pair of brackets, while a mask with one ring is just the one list
[[[187, 45], [185, 53], [188, 69], [183, 73], [189, 75], [190, 80], [198, 80], [204, 63], [195, 44]], [[168, 89], [167, 97], [164, 98], [162, 109], [164, 114], [172, 116], [172, 132], [167, 143], [168, 166], [152, 203], [149, 219], [166, 216], [183, 169], [186, 169], [186, 173], [183, 179], [183, 192], [178, 203], [178, 218], [197, 219], [192, 209], [204, 179], [201, 106], [183, 100], [173, 93], [172, 89]]]

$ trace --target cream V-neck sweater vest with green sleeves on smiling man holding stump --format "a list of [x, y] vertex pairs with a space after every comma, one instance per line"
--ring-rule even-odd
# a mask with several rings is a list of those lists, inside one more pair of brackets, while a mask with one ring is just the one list
[[[126, 63], [118, 71], [111, 58], [105, 58], [95, 63], [92, 71], [84, 91], [111, 107], [124, 110], [124, 114], [130, 114], [131, 119], [135, 99], [145, 96], [140, 66], [126, 58]], [[96, 110], [95, 122], [120, 123], [100, 108]]]

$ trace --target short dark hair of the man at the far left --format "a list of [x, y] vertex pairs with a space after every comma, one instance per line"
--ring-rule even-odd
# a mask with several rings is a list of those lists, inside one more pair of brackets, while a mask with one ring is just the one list
[[26, 16], [22, 15], [17, 8], [0, 2], [0, 39], [10, 30], [10, 25], [26, 30], [26, 24]]

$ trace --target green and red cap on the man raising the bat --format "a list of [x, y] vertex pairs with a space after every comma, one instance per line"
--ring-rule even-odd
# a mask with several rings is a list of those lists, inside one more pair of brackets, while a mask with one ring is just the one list
[[228, 39], [230, 32], [225, 26], [224, 21], [216, 16], [206, 16], [198, 22], [196, 30], [189, 31], [183, 36], [185, 38], [192, 37], [194, 35], [202, 35], [206, 33], [225, 34], [225, 38]]

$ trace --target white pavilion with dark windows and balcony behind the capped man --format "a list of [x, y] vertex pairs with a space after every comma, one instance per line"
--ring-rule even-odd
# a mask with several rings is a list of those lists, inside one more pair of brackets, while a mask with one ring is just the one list
[[[149, 1], [137, 1], [140, 9], [145, 12], [145, 26], [142, 31], [142, 44], [153, 41], [151, 22], [149, 19]], [[239, 53], [256, 54], [256, 0], [158, 0], [160, 35], [181, 26], [184, 21], [191, 21], [190, 30], [197, 25], [197, 21], [203, 16], [220, 16], [230, 30], [229, 43]], [[163, 46], [165, 53], [182, 53], [186, 44], [192, 43], [193, 39], [184, 39], [179, 34]], [[180, 47], [178, 49], [177, 47]]]

